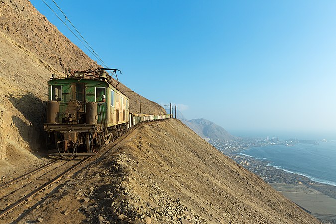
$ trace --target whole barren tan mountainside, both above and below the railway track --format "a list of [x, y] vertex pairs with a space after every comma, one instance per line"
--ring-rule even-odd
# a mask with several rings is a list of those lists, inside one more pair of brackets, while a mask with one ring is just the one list
[[[47, 160], [29, 150], [41, 145], [50, 74], [91, 66], [28, 0], [0, 0], [1, 180]], [[138, 126], [24, 208], [1, 223], [319, 223], [174, 119]]]

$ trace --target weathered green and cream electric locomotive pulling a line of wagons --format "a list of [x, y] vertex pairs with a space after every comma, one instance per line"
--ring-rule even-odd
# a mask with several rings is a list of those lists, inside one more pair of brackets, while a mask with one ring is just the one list
[[[46, 122], [49, 152], [61, 156], [93, 155], [138, 123], [170, 114], [135, 114], [129, 98], [113, 85], [118, 69], [71, 70], [48, 81]], [[118, 82], [117, 82], [118, 83]]]

